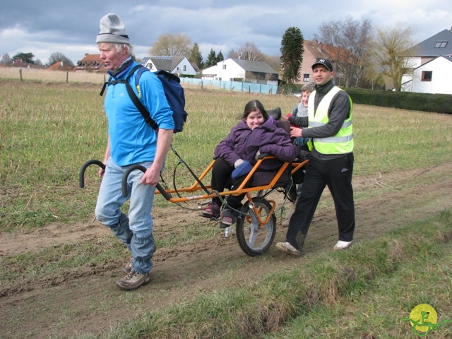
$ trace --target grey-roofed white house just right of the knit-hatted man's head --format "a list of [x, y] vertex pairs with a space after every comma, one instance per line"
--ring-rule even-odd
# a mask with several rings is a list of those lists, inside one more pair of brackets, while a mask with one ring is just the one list
[[153, 72], [167, 71], [177, 76], [196, 76], [197, 74], [189, 59], [183, 55], [145, 57], [141, 60], [141, 64]]

